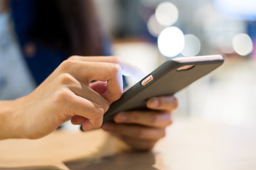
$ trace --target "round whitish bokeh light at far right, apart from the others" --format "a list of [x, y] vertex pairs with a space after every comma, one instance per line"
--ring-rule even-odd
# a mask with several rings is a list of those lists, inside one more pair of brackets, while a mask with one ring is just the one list
[[253, 50], [252, 39], [245, 33], [235, 35], [232, 45], [235, 52], [242, 56], [249, 55]]

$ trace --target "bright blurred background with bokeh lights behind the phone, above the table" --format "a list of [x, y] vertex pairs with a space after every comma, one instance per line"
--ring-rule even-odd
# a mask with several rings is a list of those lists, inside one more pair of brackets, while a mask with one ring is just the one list
[[[149, 74], [173, 57], [225, 56], [176, 97], [174, 117], [256, 122], [256, 1], [95, 0], [112, 52]], [[129, 80], [132, 84], [132, 81]]]

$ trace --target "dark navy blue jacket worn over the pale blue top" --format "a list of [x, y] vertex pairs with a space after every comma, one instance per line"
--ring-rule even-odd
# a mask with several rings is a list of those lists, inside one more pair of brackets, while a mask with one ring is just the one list
[[[28, 36], [29, 29], [33, 24], [35, 9], [33, 0], [11, 0], [11, 16], [14, 21], [14, 30], [16, 32], [18, 43], [21, 47], [28, 68], [31, 70], [36, 84], [41, 84], [54, 71], [63, 60], [68, 58], [64, 52], [50, 49], [39, 45]], [[34, 54], [30, 56], [26, 53], [26, 47], [32, 45]]]

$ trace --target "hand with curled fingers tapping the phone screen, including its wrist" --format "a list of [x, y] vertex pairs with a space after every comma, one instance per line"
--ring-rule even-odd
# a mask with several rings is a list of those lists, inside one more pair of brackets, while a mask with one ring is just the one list
[[9, 110], [0, 110], [0, 139], [43, 137], [69, 118], [84, 130], [100, 128], [122, 96], [122, 68], [134, 70], [117, 57], [70, 57], [28, 96], [2, 102]]

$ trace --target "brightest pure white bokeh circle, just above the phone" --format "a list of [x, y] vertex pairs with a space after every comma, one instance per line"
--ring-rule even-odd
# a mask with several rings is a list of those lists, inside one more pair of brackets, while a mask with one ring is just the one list
[[175, 57], [184, 47], [184, 34], [177, 27], [168, 27], [161, 31], [158, 37], [158, 47], [162, 55]]

